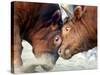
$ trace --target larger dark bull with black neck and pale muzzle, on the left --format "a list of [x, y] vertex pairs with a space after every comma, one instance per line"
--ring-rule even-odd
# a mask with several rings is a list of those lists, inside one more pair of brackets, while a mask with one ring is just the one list
[[[22, 65], [22, 40], [28, 41], [33, 53], [45, 70], [58, 59], [61, 44], [61, 12], [58, 4], [11, 3], [11, 65]], [[29, 56], [28, 56], [29, 57]], [[40, 60], [41, 59], [41, 60]], [[13, 72], [13, 71], [12, 71]]]

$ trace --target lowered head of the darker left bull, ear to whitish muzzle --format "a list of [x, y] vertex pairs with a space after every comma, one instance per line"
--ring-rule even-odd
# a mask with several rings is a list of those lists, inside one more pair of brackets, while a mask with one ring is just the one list
[[60, 15], [59, 10], [55, 11], [52, 18], [43, 23], [46, 26], [42, 25], [44, 27], [41, 27], [31, 36], [33, 53], [40, 62], [41, 67], [47, 71], [53, 68], [59, 57], [58, 49], [62, 42], [60, 26], [58, 25]]

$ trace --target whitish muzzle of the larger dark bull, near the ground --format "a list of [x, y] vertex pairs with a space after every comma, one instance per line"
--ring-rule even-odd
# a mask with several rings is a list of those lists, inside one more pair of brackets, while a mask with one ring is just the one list
[[42, 54], [37, 58], [38, 64], [45, 70], [50, 71], [53, 69], [56, 61], [58, 59], [58, 55], [56, 54]]

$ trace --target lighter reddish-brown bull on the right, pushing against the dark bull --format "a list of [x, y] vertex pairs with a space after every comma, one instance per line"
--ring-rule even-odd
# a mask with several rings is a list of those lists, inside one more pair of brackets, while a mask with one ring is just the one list
[[58, 51], [64, 59], [97, 46], [97, 7], [76, 6], [70, 16], [62, 27], [63, 41]]

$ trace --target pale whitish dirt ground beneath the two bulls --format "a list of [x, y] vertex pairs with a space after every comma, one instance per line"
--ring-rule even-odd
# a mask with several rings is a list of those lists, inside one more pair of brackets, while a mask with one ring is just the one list
[[[15, 70], [15, 73], [34, 73], [34, 72], [46, 72], [40, 66], [38, 66], [36, 58], [32, 54], [32, 47], [23, 41], [23, 67]], [[54, 68], [49, 71], [72, 71], [72, 70], [88, 70], [97, 69], [97, 48], [93, 48], [88, 52], [79, 53], [73, 56], [69, 60], [64, 60], [61, 57], [56, 62]]]

